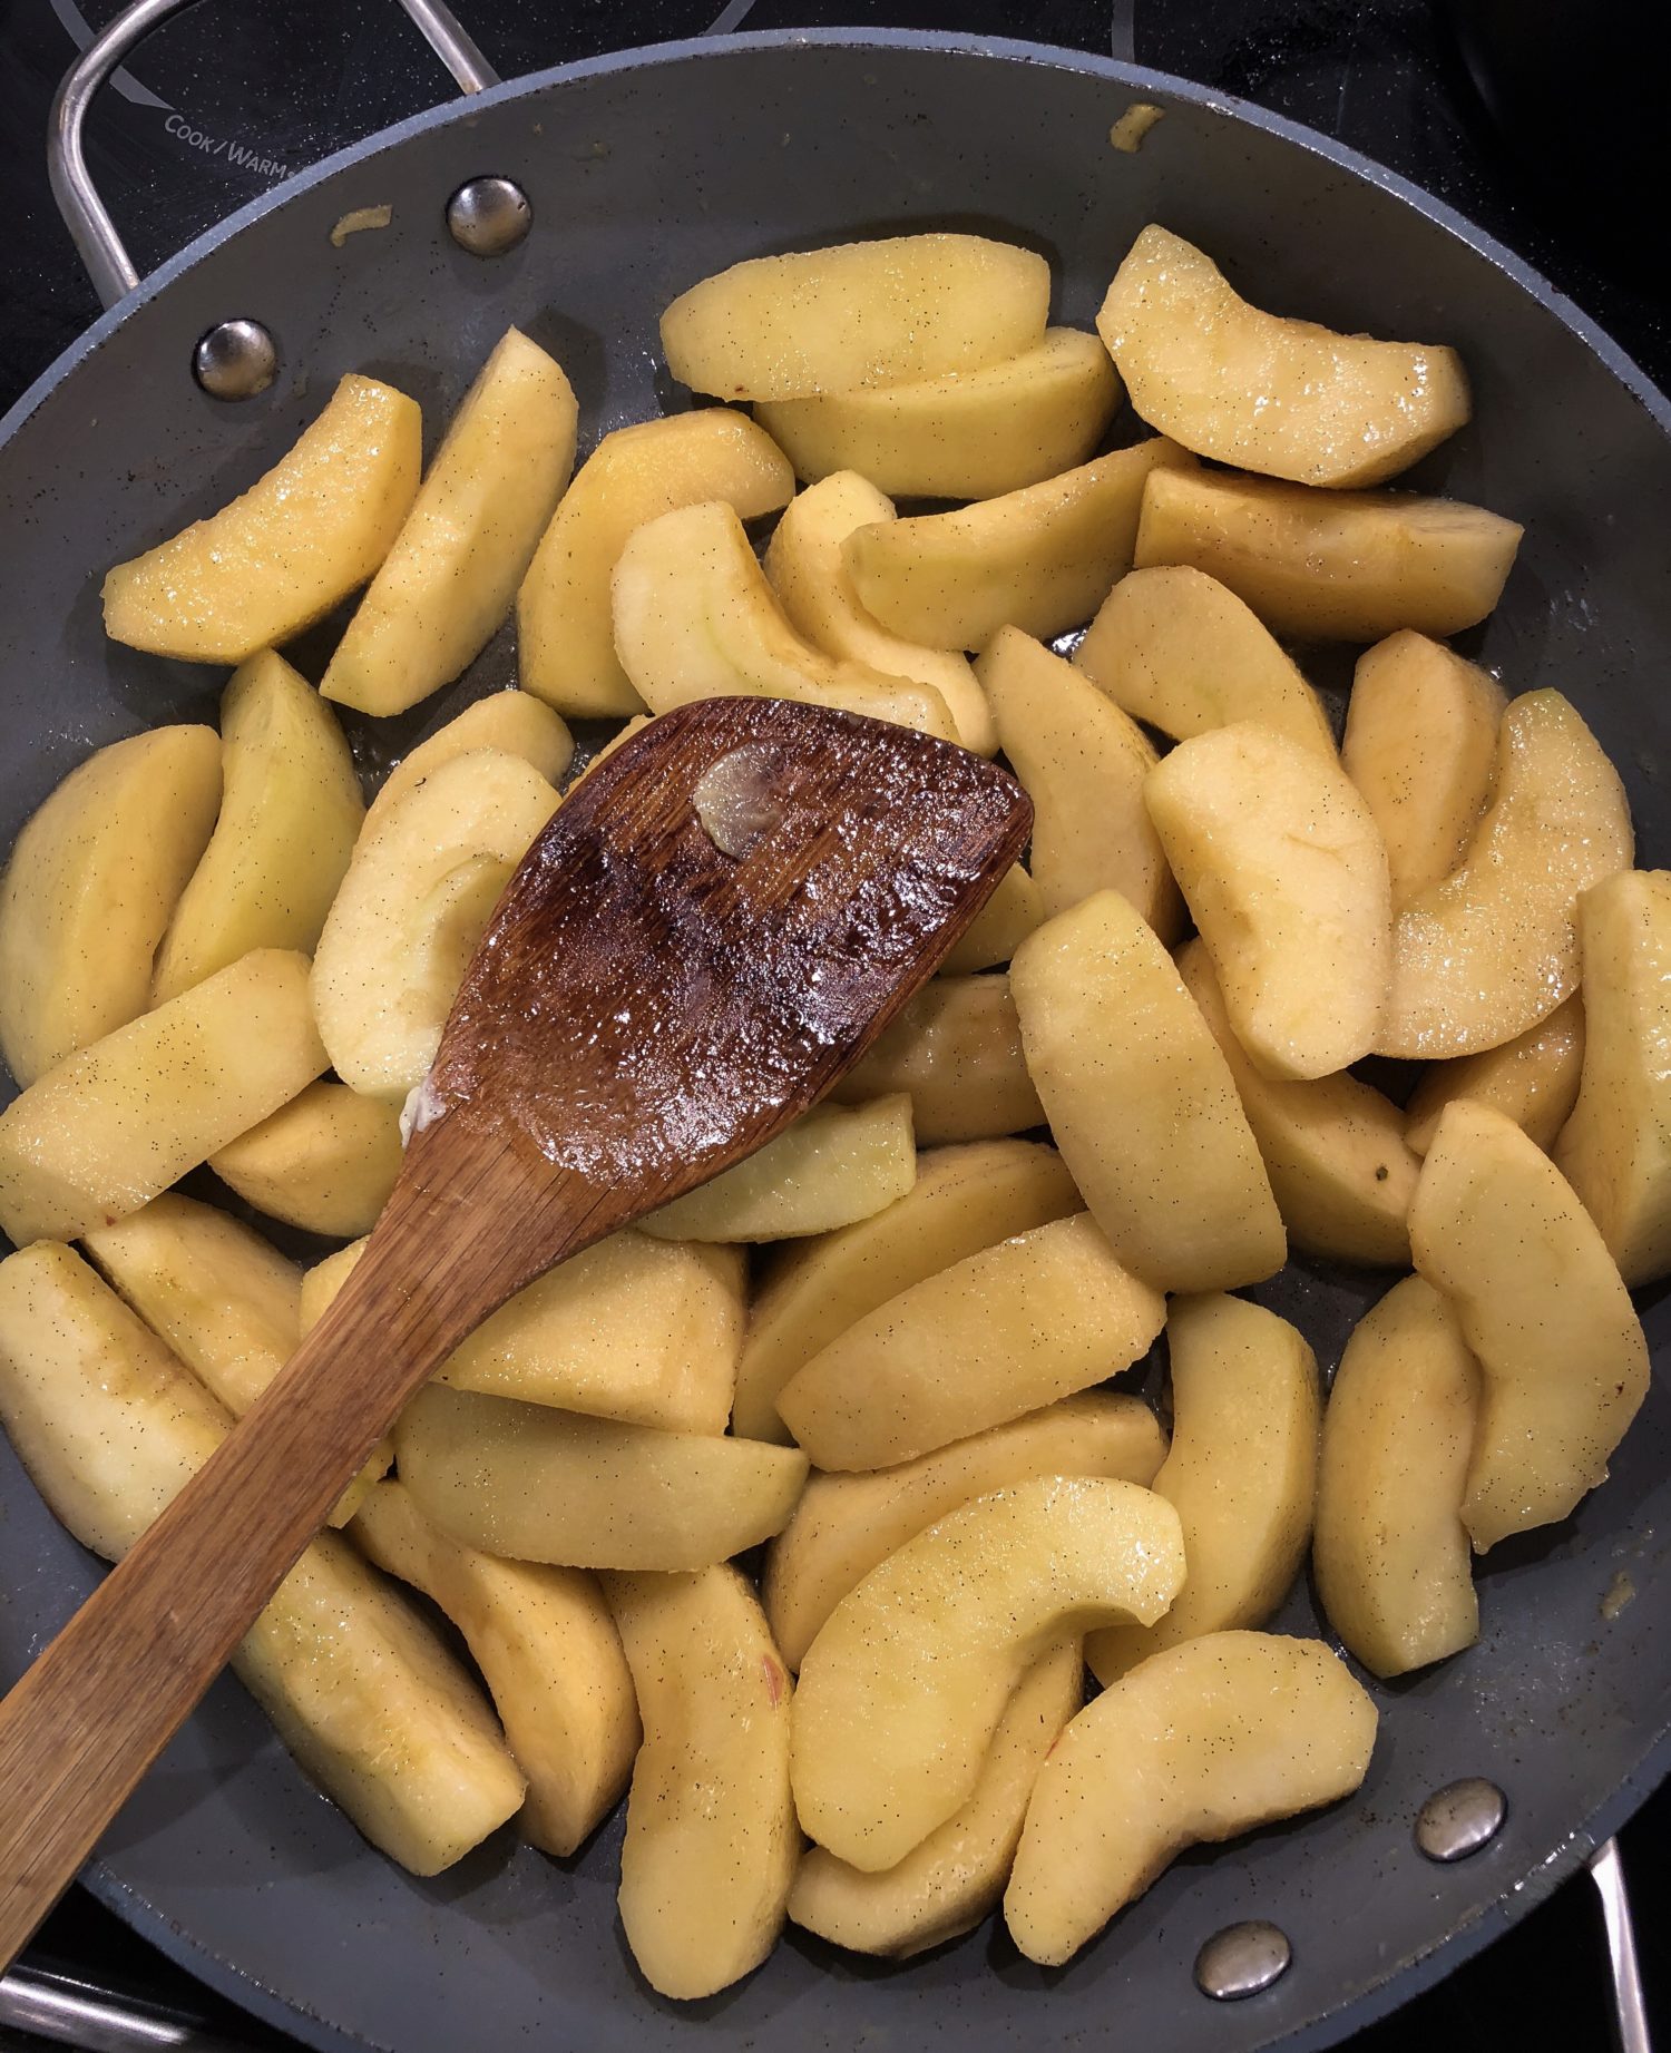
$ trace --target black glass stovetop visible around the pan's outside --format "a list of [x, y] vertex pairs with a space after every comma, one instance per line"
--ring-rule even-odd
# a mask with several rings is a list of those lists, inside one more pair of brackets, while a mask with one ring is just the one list
[[[111, 0], [0, 0], [0, 201], [10, 230], [0, 406], [99, 312], [51, 209], [43, 138], [72, 39], [84, 41], [88, 23], [99, 27], [113, 12]], [[1663, 172], [1659, 189], [1644, 185], [1663, 129], [1663, 113], [1648, 109], [1648, 92], [1667, 76], [1655, 62], [1663, 0], [1634, 8], [1585, 0], [1581, 10], [1564, 0], [458, 0], [458, 12], [507, 78], [712, 29], [838, 25], [961, 29], [1135, 57], [1338, 135], [1437, 193], [1544, 271], [1671, 386]], [[1497, 86], [1470, 70], [1505, 21], [1521, 60], [1540, 37], [1560, 37], [1572, 119], [1556, 140], [1550, 107], [1523, 80]], [[1624, 66], [1622, 21], [1638, 60]], [[1611, 45], [1599, 31], [1587, 45], [1575, 23], [1605, 23]], [[1492, 92], [1490, 107], [1480, 84]], [[285, 170], [445, 90], [394, 0], [207, 0], [152, 37], [121, 90], [105, 94], [90, 125], [90, 162], [144, 269]], [[1575, 148], [1572, 131], [1583, 125], [1587, 140]], [[1653, 232], [1638, 230], [1640, 220]], [[1648, 2010], [1671, 2049], [1671, 1790], [1661, 1790], [1622, 1844]], [[201, 1991], [80, 1891], [53, 1913], [29, 1965], [156, 2004], [156, 2045], [285, 2045]], [[1607, 2043], [1607, 2002], [1601, 1920], [1577, 1878], [1355, 2045], [1365, 2053], [1499, 2045], [1587, 2053]], [[0, 2026], [0, 2047], [27, 2045], [39, 2041]]]

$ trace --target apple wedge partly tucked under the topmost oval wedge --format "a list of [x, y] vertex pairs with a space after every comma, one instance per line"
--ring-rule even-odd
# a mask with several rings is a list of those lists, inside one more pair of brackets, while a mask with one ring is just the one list
[[1094, 335], [1047, 328], [985, 370], [768, 400], [755, 419], [809, 482], [856, 470], [893, 499], [994, 499], [1082, 464], [1119, 398]]

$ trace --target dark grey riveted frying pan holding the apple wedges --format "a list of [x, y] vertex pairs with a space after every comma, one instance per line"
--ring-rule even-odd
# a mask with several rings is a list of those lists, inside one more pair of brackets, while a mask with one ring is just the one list
[[[468, 45], [454, 53], [468, 74]], [[1127, 156], [1109, 127], [1133, 99], [1164, 119]], [[443, 222], [450, 195], [482, 175], [532, 203], [532, 232], [495, 259], [460, 248]], [[345, 214], [380, 203], [384, 230], [333, 244]], [[1470, 653], [1513, 690], [1575, 698], [1630, 786], [1640, 860], [1671, 858], [1671, 409], [1620, 351], [1466, 222], [1258, 109], [1022, 43], [858, 31], [667, 45], [491, 86], [289, 181], [127, 292], [0, 423], [0, 840], [94, 745], [211, 716], [218, 675], [105, 643], [99, 577], [240, 489], [339, 374], [390, 378], [433, 427], [515, 320], [560, 357], [595, 437], [684, 402], [657, 367], [657, 314], [739, 257], [973, 226], [1045, 250], [1057, 318], [1088, 324], [1148, 220], [1201, 240], [1260, 304], [1462, 347], [1478, 417], [1419, 482], [1527, 524]], [[119, 287], [109, 236], [82, 240]], [[207, 396], [191, 370], [230, 316], [263, 322], [277, 357], [242, 404]], [[355, 749], [386, 760], [509, 675], [501, 641], [445, 702], [378, 733], [361, 723]], [[1332, 1369], [1382, 1287], [1293, 1263], [1254, 1295]], [[790, 1932], [743, 1985], [665, 2004], [634, 1977], [614, 1920], [620, 1819], [575, 1862], [501, 1835], [415, 1881], [302, 1780], [232, 1681], [86, 1881], [203, 1981], [322, 2049], [1328, 2045], [1548, 1895], [1671, 1764], [1663, 1291], [1644, 1320], [1655, 1384], [1611, 1480], [1564, 1525], [1492, 1550], [1474, 1649], [1373, 1686], [1382, 1737], [1363, 1792], [1187, 1856], [1067, 1969], [1020, 1961], [992, 1926], [907, 1967]], [[99, 1571], [4, 1449], [0, 1501], [10, 1683]], [[1326, 1634], [1306, 1587], [1275, 1624]], [[1505, 1823], [1470, 1858], [1435, 1864], [1419, 1813], [1470, 1776], [1505, 1792]], [[1244, 2002], [1211, 2002], [1197, 1952], [1242, 1920], [1281, 1928], [1291, 1967]]]

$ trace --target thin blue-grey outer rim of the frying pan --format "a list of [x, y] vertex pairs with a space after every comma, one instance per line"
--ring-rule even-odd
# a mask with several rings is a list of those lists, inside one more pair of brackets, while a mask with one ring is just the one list
[[[1061, 49], [1047, 43], [1031, 43], [1012, 37], [950, 35], [918, 29], [776, 29], [741, 35], [698, 35], [679, 41], [655, 43], [649, 47], [610, 51], [597, 57], [583, 57], [569, 64], [550, 66], [521, 78], [505, 80], [487, 92], [468, 99], [445, 101], [425, 109], [404, 121], [378, 129], [320, 162], [285, 179], [269, 193], [259, 195], [238, 207], [213, 228], [195, 236], [158, 265], [142, 283], [99, 316], [51, 365], [21, 394], [21, 398], [0, 417], [0, 464], [6, 448], [23, 423], [80, 367], [84, 359], [117, 333], [142, 308], [160, 298], [177, 279], [205, 261], [224, 242], [252, 228], [267, 214], [289, 203], [302, 193], [322, 185], [343, 170], [363, 164], [386, 150], [392, 150], [417, 135], [464, 121], [487, 107], [509, 105], [536, 99], [538, 94], [583, 78], [610, 76], [618, 72], [651, 70], [663, 64], [690, 64], [692, 60], [729, 55], [749, 55], [770, 49], [848, 49], [848, 51], [916, 51], [926, 55], [992, 57], [1012, 64], [1035, 64], [1082, 76], [1102, 78], [1133, 92], [1150, 92], [1182, 101], [1213, 115], [1246, 123], [1277, 140], [1306, 150], [1308, 156], [1322, 158], [1349, 177], [1390, 193], [1408, 205], [1435, 228], [1453, 236], [1474, 255], [1490, 263], [1513, 285], [1529, 294], [1544, 306], [1579, 343], [1583, 343], [1603, 367], [1642, 406], [1648, 421], [1671, 439], [1671, 398], [1659, 390], [1648, 374], [1622, 349], [1611, 335], [1585, 314], [1566, 294], [1550, 283], [1536, 267], [1515, 257], [1494, 236], [1472, 224], [1464, 214], [1412, 185], [1398, 172], [1388, 170], [1373, 158], [1334, 142], [1318, 129], [1275, 115], [1256, 103], [1207, 86], [1156, 72], [1145, 66], [1127, 64], [1117, 57], [1102, 57], [1088, 51]], [[1646, 1735], [1644, 1751], [1636, 1768], [1624, 1778], [1609, 1800], [1599, 1805], [1587, 1819], [1572, 1825], [1568, 1835], [1525, 1876], [1505, 1883], [1501, 1893], [1472, 1918], [1453, 1926], [1423, 1952], [1414, 1952], [1386, 1969], [1386, 1973], [1347, 2002], [1320, 2010], [1306, 2024], [1275, 2039], [1260, 2041], [1260, 2047], [1281, 2045], [1289, 2053], [1320, 2053], [1336, 2045], [1347, 2030], [1357, 2030], [1419, 1996], [1464, 1961], [1472, 1959], [1486, 1944], [1517, 1924], [1529, 1909], [1546, 1901], [1579, 1864], [1603, 1844], [1620, 1825], [1653, 1794], [1671, 1774], [1671, 1716], [1657, 1731]], [[166, 1959], [195, 1975], [209, 1989], [240, 2004], [255, 2018], [287, 2030], [306, 2043], [331, 2049], [331, 2053], [396, 2053], [382, 2041], [347, 2030], [308, 2010], [304, 2004], [281, 1996], [234, 1961], [224, 1959], [189, 1932], [172, 1924], [168, 1913], [144, 1893], [123, 1883], [111, 1866], [94, 1856], [80, 1876], [82, 1885], [105, 1907], [115, 1911], [127, 1926], [138, 1930]]]

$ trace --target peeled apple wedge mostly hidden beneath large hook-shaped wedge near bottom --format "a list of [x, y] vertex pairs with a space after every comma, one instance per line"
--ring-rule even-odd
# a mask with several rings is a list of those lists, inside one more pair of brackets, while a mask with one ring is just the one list
[[969, 1798], [897, 1866], [866, 1874], [807, 1848], [788, 1893], [790, 1924], [895, 1961], [971, 1932], [1004, 1895], [1033, 1782], [1082, 1702], [1084, 1663], [1067, 1640], [1016, 1686]]

